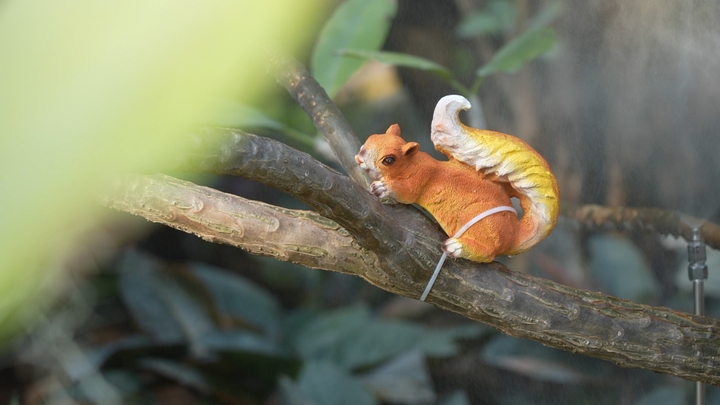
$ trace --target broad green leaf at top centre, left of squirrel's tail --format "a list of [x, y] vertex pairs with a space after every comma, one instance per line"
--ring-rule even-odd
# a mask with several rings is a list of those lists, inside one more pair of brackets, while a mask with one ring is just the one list
[[385, 42], [397, 4], [390, 0], [347, 0], [325, 23], [310, 60], [315, 79], [334, 97], [364, 61], [337, 56], [337, 51], [374, 51]]

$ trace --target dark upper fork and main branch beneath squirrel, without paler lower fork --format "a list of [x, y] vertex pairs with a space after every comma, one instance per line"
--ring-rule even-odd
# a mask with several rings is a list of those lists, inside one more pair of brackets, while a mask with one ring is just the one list
[[[445, 238], [427, 218], [405, 217], [399, 223], [396, 214], [407, 208], [379, 205], [347, 177], [280, 143], [229, 130], [205, 136], [234, 146], [196, 154], [193, 161], [200, 168], [263, 181], [322, 209], [361, 247], [378, 247], [369, 249], [373, 254], [362, 261], [365, 267], [352, 272], [393, 293], [420, 295]], [[200, 158], [203, 153], [206, 159]], [[421, 229], [430, 231], [423, 236]], [[445, 264], [428, 301], [510, 336], [720, 385], [720, 324], [714, 318], [565, 287], [499, 263], [464, 260]]]

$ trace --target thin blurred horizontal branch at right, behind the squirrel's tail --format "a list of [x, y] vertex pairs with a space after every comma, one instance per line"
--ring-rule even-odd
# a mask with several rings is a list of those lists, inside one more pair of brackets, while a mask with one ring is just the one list
[[563, 215], [575, 219], [589, 230], [617, 229], [621, 231], [657, 232], [663, 235], [681, 236], [692, 239], [692, 224], [702, 223], [700, 233], [705, 243], [720, 249], [720, 225], [710, 221], [699, 221], [674, 211], [658, 208], [603, 207], [583, 205], [563, 210]]

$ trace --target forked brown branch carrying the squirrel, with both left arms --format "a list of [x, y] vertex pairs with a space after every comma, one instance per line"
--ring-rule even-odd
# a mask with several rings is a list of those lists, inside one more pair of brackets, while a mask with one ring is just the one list
[[[306, 250], [319, 248], [307, 236], [295, 236], [298, 241], [280, 244], [286, 247], [277, 244], [267, 249], [259, 247], [263, 242], [254, 238], [267, 237], [268, 244], [276, 243], [271, 237], [273, 233], [267, 232], [268, 221], [273, 222], [272, 219], [258, 221], [257, 225], [250, 222], [240, 225], [237, 218], [243, 215], [239, 214], [243, 208], [229, 214], [234, 204], [244, 204], [238, 197], [161, 176], [119, 180], [114, 191], [104, 197], [105, 204], [280, 260], [357, 274], [399, 295], [412, 298], [420, 295], [445, 238], [429, 219], [406, 217], [398, 223], [395, 214], [412, 208], [381, 205], [349, 178], [281, 143], [233, 130], [208, 131], [203, 137], [206, 141], [217, 137], [221, 142], [212, 143], [222, 146], [214, 151], [202, 148], [205, 152], [196, 152], [186, 164], [261, 180], [306, 201], [343, 228], [328, 225], [331, 222], [318, 223], [318, 217], [311, 216], [310, 225], [321, 229], [304, 232], [318, 235], [316, 232], [322, 230], [349, 235], [352, 241], [342, 242], [349, 246], [348, 250], [341, 252], [325, 246], [322, 249], [331, 253], [316, 255], [313, 262], [307, 255], [292, 252], [296, 245]], [[332, 186], [322, 187], [328, 184]], [[180, 191], [172, 191], [178, 187]], [[155, 203], [150, 204], [151, 201]], [[279, 212], [290, 213], [292, 218], [315, 215], [267, 206], [264, 209], [270, 210], [262, 214], [264, 218], [278, 218]], [[254, 236], [250, 238], [248, 230], [253, 227]], [[429, 229], [430, 233], [422, 235], [418, 229]], [[247, 238], [242, 240], [240, 235]], [[327, 233], [322, 235], [329, 237]], [[287, 248], [288, 245], [292, 247]], [[715, 318], [562, 286], [512, 272], [495, 262], [478, 264], [464, 260], [446, 263], [428, 302], [510, 336], [533, 339], [624, 367], [720, 385], [720, 323]]]

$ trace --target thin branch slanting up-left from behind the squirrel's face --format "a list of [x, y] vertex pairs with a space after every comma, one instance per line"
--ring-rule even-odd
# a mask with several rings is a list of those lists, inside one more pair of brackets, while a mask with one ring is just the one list
[[288, 55], [273, 58], [270, 68], [277, 81], [288, 90], [323, 134], [350, 178], [367, 189], [370, 181], [355, 163], [360, 141], [322, 86], [305, 66]]

